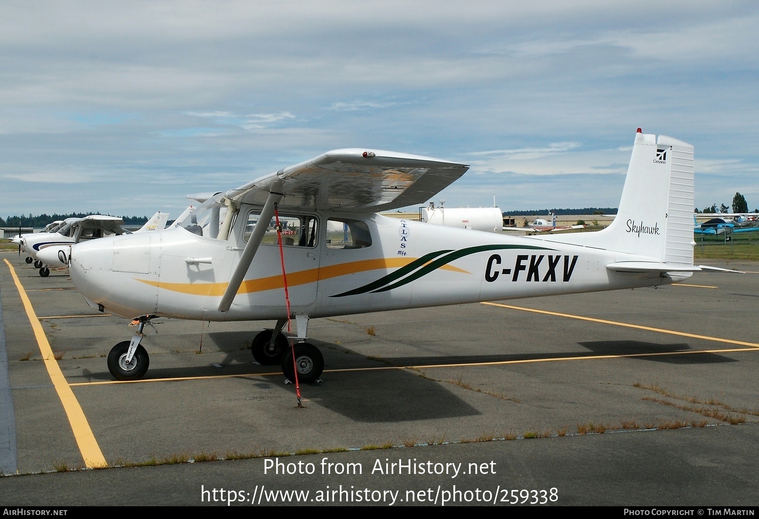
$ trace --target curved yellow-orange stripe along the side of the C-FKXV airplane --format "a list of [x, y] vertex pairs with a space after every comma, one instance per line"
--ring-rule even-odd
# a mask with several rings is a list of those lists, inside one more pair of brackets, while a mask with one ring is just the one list
[[[349, 263], [341, 263], [336, 265], [327, 265], [326, 267], [310, 268], [306, 271], [288, 272], [287, 284], [288, 286], [305, 285], [307, 283], [315, 283], [320, 280], [327, 280], [331, 277], [356, 274], [357, 272], [405, 267], [411, 263], [411, 261], [414, 261], [416, 259], [417, 258], [377, 258], [363, 261], [351, 261]], [[443, 265], [440, 268], [444, 271], [471, 274], [471, 272], [465, 271], [458, 267], [454, 267], [452, 265]], [[166, 283], [165, 281], [140, 280], [137, 277], [134, 279], [140, 281], [141, 283], [158, 286], [164, 290], [192, 294], [194, 296], [223, 296], [225, 290], [227, 290], [228, 285], [228, 283]], [[257, 280], [243, 281], [240, 285], [240, 289], [238, 290], [238, 294], [261, 292], [263, 290], [274, 290], [283, 287], [284, 284], [282, 283], [282, 275], [277, 274], [276, 276], [260, 277]]]

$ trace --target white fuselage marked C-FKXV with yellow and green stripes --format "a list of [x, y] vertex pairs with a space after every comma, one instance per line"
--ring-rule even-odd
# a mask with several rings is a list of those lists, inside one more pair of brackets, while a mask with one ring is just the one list
[[[258, 248], [228, 311], [218, 308], [250, 234], [245, 215], [255, 210], [243, 205], [223, 240], [176, 228], [78, 243], [71, 250], [72, 280], [90, 305], [127, 318], [284, 318], [280, 249], [271, 238]], [[453, 229], [379, 214], [299, 211], [294, 217], [317, 221], [313, 242], [290, 245], [285, 239], [282, 246], [291, 314], [310, 318], [684, 279], [609, 271], [607, 264], [641, 257], [540, 237]], [[347, 223], [345, 236], [335, 231], [335, 222], [342, 225], [344, 220], [363, 223], [368, 239], [344, 239]]]

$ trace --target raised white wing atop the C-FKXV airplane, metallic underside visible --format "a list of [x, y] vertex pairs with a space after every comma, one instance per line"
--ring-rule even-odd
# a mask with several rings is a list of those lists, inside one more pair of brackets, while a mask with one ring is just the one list
[[469, 169], [465, 164], [383, 150], [332, 150], [281, 169], [227, 196], [243, 204], [285, 195], [281, 208], [379, 210], [424, 204]]

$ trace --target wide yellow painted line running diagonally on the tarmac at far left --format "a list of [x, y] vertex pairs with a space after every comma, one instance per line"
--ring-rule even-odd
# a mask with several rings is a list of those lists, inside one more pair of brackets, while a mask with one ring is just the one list
[[50, 343], [45, 336], [42, 324], [39, 324], [39, 318], [34, 313], [32, 303], [24, 290], [24, 286], [21, 285], [13, 265], [7, 259], [4, 259], [4, 261], [8, 264], [8, 268], [11, 269], [11, 276], [13, 276], [14, 283], [16, 283], [21, 301], [24, 302], [24, 309], [27, 311], [27, 316], [34, 331], [34, 337], [36, 337], [37, 344], [39, 345], [39, 353], [42, 353], [48, 375], [50, 375], [52, 384], [55, 386], [55, 391], [58, 393], [58, 398], [61, 399], [63, 408], [66, 411], [68, 422], [71, 424], [71, 429], [74, 432], [74, 438], [76, 438], [79, 451], [84, 458], [84, 464], [88, 468], [108, 467], [106, 458], [103, 457], [102, 451], [100, 451], [97, 445], [95, 435], [93, 435], [93, 431], [90, 429], [90, 423], [87, 422], [87, 416], [84, 416], [82, 407], [79, 405], [77, 397], [74, 396], [74, 391], [71, 390], [71, 387], [66, 382], [63, 372], [61, 372], [61, 367], [58, 366], [58, 361], [53, 356]]

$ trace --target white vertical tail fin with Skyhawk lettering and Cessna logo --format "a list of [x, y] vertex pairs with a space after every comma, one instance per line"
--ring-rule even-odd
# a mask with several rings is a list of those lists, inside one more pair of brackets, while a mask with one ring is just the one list
[[561, 241], [693, 264], [692, 218], [693, 146], [638, 131], [614, 221], [598, 233]]

